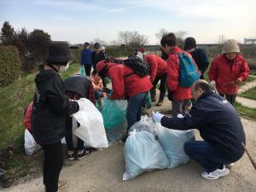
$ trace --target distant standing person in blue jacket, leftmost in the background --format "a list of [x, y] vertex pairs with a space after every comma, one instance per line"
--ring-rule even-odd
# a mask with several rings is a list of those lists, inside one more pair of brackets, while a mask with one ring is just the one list
[[91, 71], [91, 53], [90, 50], [90, 44], [88, 42], [84, 43], [84, 49], [82, 51], [81, 55], [81, 63], [80, 65], [84, 67], [85, 74], [90, 77], [90, 71]]

